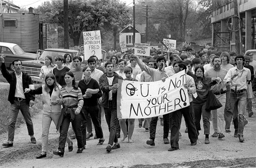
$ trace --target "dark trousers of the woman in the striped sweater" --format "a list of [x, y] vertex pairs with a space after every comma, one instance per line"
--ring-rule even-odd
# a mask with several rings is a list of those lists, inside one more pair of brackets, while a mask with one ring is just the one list
[[72, 122], [71, 122], [70, 116], [63, 117], [62, 124], [60, 126], [60, 135], [59, 135], [58, 150], [60, 152], [62, 153], [65, 152], [65, 144], [66, 144], [70, 122], [76, 134], [77, 147], [82, 148], [83, 144], [82, 144], [82, 132], [81, 132], [81, 118], [82, 118], [81, 112], [78, 115], [75, 115], [75, 118]]

